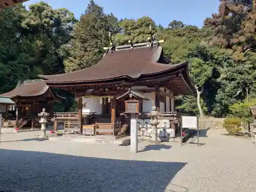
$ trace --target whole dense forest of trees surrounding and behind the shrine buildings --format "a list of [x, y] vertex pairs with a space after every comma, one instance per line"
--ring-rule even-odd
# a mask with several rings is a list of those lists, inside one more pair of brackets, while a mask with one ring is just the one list
[[[5, 9], [0, 16], [0, 92], [13, 89], [18, 80], [37, 78], [37, 74], [95, 65], [103, 47], [110, 46], [109, 32], [117, 45], [129, 40], [145, 42], [151, 25], [156, 37], [165, 40], [161, 46], [172, 63], [190, 63], [198, 97], [177, 96], [177, 108], [215, 117], [236, 114], [234, 108], [242, 106], [247, 96], [256, 96], [256, 12], [252, 2], [221, 0], [219, 13], [206, 18], [202, 28], [179, 20], [164, 28], [147, 16], [118, 19], [104, 13], [94, 1], [84, 8], [79, 20], [67, 9], [55, 10], [44, 2], [28, 10], [22, 5]], [[72, 104], [73, 100], [67, 99], [58, 108], [68, 111]]]

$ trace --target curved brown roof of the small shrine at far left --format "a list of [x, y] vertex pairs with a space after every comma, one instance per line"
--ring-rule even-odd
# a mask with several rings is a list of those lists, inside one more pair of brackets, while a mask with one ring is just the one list
[[[26, 80], [18, 83], [17, 86], [10, 92], [1, 94], [0, 96], [15, 98], [15, 97], [35, 97], [45, 94], [50, 88], [42, 79]], [[56, 98], [63, 99], [63, 97], [56, 94], [51, 90]]]

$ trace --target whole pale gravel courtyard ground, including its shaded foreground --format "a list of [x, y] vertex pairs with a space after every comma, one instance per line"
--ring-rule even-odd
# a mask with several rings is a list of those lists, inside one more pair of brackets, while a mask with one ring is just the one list
[[218, 130], [201, 137], [200, 147], [143, 141], [138, 154], [130, 154], [129, 146], [33, 139], [37, 135], [2, 135], [0, 186], [49, 192], [256, 191], [256, 145]]

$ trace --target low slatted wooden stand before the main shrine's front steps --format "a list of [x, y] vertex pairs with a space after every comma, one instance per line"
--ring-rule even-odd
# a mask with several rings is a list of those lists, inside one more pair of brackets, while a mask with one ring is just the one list
[[121, 134], [121, 123], [95, 123], [95, 136], [98, 133], [111, 133], [115, 136], [115, 133]]

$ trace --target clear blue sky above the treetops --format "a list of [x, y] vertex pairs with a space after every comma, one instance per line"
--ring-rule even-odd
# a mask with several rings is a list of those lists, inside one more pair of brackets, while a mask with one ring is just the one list
[[[35, 4], [40, 0], [30, 0], [25, 5]], [[86, 10], [89, 0], [45, 0], [54, 9], [65, 7], [75, 14], [76, 18]], [[176, 19], [187, 25], [201, 27], [205, 17], [218, 12], [219, 0], [95, 0], [104, 8], [105, 13], [113, 13], [120, 18], [139, 18], [150, 16], [156, 24], [168, 26]]]

